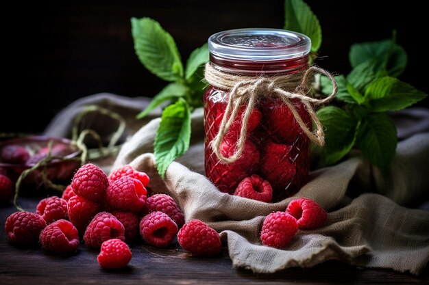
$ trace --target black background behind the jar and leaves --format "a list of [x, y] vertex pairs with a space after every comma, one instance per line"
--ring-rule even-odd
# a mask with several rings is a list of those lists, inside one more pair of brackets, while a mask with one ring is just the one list
[[[3, 92], [0, 133], [41, 132], [77, 98], [99, 92], [154, 96], [164, 81], [134, 54], [130, 18], [149, 16], [175, 39], [182, 60], [217, 31], [282, 28], [283, 1], [55, 1], [3, 9]], [[338, 74], [350, 70], [354, 42], [390, 38], [408, 52], [401, 79], [428, 92], [426, 10], [421, 1], [307, 0], [319, 17], [323, 42], [316, 63]], [[390, 4], [389, 4], [390, 3]], [[5, 19], [7, 18], [7, 20]], [[8, 103], [6, 103], [8, 102]], [[419, 103], [428, 104], [428, 99]], [[11, 114], [12, 113], [12, 114]]]

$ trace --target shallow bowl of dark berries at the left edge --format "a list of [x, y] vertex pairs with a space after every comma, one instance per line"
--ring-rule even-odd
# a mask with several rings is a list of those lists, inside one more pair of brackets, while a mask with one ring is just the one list
[[40, 165], [23, 180], [40, 187], [43, 176], [54, 183], [68, 183], [80, 166], [82, 155], [73, 141], [61, 137], [25, 136], [0, 141], [0, 175], [16, 182], [26, 169]]

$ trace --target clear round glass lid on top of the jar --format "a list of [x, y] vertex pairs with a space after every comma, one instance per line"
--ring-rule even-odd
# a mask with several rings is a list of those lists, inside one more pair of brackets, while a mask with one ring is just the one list
[[230, 29], [210, 36], [208, 49], [212, 55], [225, 59], [273, 61], [307, 55], [311, 40], [285, 29]]

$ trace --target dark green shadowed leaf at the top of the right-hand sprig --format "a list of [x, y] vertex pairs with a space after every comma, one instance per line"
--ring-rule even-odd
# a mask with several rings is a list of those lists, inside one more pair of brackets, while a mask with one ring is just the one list
[[386, 70], [388, 75], [397, 77], [406, 67], [407, 55], [402, 46], [394, 40], [381, 40], [378, 42], [363, 42], [353, 44], [349, 53], [350, 64], [355, 68], [363, 62], [373, 60], [375, 71]]

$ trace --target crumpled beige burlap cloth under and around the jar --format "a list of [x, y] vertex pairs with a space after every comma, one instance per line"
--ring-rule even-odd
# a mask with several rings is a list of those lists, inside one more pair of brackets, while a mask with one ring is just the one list
[[[428, 200], [427, 109], [414, 109], [395, 117], [406, 117], [397, 120], [397, 126], [398, 133], [407, 138], [398, 144], [387, 174], [371, 167], [358, 152], [337, 165], [311, 172], [310, 182], [294, 197], [317, 201], [328, 211], [328, 223], [317, 230], [298, 230], [285, 249], [274, 249], [260, 243], [262, 221], [273, 211], [284, 211], [294, 197], [269, 204], [218, 191], [204, 176], [201, 109], [192, 114], [188, 152], [171, 163], [162, 180], [151, 154], [160, 122], [160, 118], [154, 117], [159, 116], [160, 109], [151, 113], [149, 119], [154, 120], [132, 120], [148, 102], [147, 98], [112, 94], [90, 96], [58, 114], [45, 134], [67, 135], [71, 119], [84, 105], [102, 105], [121, 113], [130, 122], [129, 133], [136, 132], [123, 144], [114, 164], [107, 165], [106, 169], [131, 164], [149, 174], [151, 191], [171, 195], [182, 208], [186, 221], [201, 219], [221, 234], [233, 267], [244, 267], [255, 273], [273, 273], [289, 267], [312, 267], [335, 259], [358, 267], [390, 268], [418, 274], [428, 264], [429, 211], [400, 206]], [[401, 124], [407, 127], [401, 128]], [[408, 126], [418, 127], [410, 132]]]

